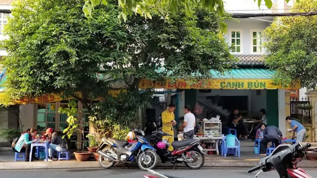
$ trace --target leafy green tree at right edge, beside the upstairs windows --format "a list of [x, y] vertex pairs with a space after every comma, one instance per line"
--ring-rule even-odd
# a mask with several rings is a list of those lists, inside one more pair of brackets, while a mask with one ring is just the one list
[[[300, 0], [296, 12], [317, 12], [317, 0]], [[289, 85], [300, 80], [308, 88], [317, 86], [317, 16], [275, 18], [265, 30], [266, 65], [276, 70], [275, 81]]]

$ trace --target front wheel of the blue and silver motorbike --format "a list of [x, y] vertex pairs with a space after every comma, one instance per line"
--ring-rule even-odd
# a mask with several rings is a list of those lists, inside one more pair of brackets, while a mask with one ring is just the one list
[[153, 150], [145, 150], [138, 156], [138, 166], [143, 171], [155, 168], [158, 163], [158, 155]]

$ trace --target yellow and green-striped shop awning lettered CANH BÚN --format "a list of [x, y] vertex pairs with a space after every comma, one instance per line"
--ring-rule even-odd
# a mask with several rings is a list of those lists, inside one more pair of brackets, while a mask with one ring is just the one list
[[201, 81], [188, 81], [177, 79], [176, 81], [166, 80], [155, 82], [141, 79], [139, 82], [140, 89], [157, 88], [157, 89], [299, 89], [300, 82], [294, 82], [294, 85], [284, 87], [274, 85], [273, 74], [276, 71], [262, 68], [238, 68], [230, 71], [219, 73], [210, 71], [213, 78], [203, 79]]

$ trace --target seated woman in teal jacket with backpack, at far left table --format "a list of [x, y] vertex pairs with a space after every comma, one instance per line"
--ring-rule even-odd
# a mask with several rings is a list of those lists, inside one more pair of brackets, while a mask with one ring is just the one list
[[[29, 161], [30, 158], [30, 149], [31, 149], [31, 143], [37, 142], [38, 139], [36, 140], [31, 140], [32, 137], [35, 137], [37, 134], [37, 130], [35, 128], [30, 129], [30, 133], [26, 132], [21, 137], [19, 138], [16, 146], [14, 147], [16, 152], [25, 152], [25, 161]], [[35, 156], [35, 149], [33, 149], [32, 154], [31, 154], [31, 160], [38, 160]]]

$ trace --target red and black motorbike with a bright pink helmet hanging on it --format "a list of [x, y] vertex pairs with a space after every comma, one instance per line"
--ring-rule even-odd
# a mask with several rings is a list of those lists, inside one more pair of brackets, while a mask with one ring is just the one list
[[169, 143], [162, 140], [163, 136], [171, 136], [161, 130], [153, 133], [150, 138], [151, 144], [156, 148], [157, 154], [162, 163], [184, 163], [190, 169], [199, 169], [204, 164], [204, 154], [200, 146], [200, 139], [190, 139], [172, 142], [174, 150], [171, 152], [167, 148]]

